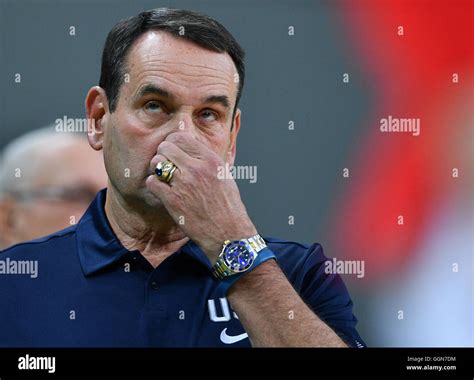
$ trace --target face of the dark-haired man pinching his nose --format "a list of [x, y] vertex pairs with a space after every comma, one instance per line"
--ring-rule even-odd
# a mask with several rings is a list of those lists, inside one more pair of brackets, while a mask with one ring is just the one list
[[238, 82], [228, 54], [148, 32], [133, 44], [126, 63], [116, 110], [102, 119], [107, 173], [122, 197], [160, 204], [145, 180], [158, 145], [173, 132], [189, 133], [233, 164], [240, 112], [231, 131]]

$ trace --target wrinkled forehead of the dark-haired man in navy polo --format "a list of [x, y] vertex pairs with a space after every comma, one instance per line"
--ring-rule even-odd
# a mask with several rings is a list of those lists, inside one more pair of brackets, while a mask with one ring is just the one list
[[132, 92], [153, 83], [174, 93], [225, 92], [236, 96], [237, 69], [227, 53], [200, 47], [162, 31], [140, 36], [127, 55]]

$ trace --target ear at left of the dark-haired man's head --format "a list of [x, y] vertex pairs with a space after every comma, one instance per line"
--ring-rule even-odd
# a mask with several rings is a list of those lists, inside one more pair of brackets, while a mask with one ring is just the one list
[[90, 146], [101, 150], [104, 142], [104, 131], [109, 117], [107, 95], [102, 87], [91, 87], [86, 96], [87, 138]]

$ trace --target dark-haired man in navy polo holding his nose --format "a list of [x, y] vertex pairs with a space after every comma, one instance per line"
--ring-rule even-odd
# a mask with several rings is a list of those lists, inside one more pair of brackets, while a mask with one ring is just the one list
[[262, 239], [218, 178], [243, 81], [242, 49], [207, 16], [155, 9], [111, 30], [86, 97], [108, 187], [77, 226], [1, 255], [39, 269], [0, 276], [1, 344], [363, 345], [321, 246]]

